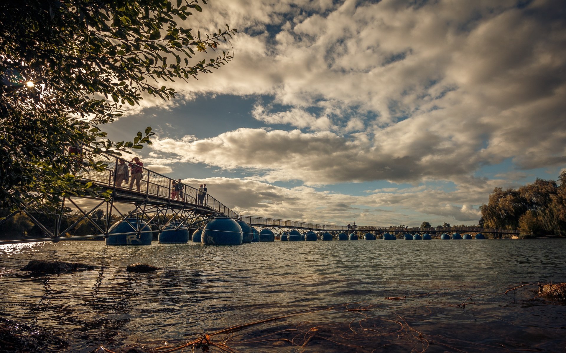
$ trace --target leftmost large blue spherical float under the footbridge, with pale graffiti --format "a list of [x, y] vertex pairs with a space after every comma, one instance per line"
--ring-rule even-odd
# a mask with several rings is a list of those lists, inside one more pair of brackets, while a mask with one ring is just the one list
[[110, 227], [106, 245], [151, 245], [152, 239], [153, 233], [147, 221], [129, 217]]

